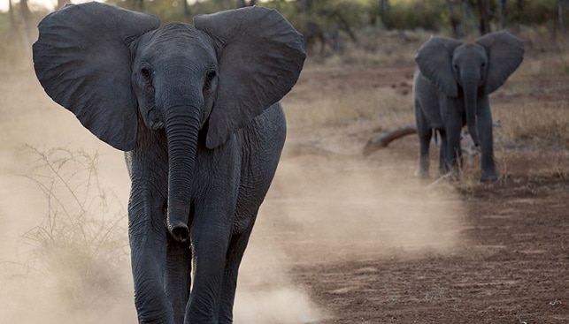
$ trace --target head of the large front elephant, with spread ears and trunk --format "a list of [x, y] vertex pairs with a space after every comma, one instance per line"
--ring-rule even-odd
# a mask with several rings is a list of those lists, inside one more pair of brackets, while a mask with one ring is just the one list
[[248, 7], [158, 27], [107, 4], [67, 5], [42, 20], [35, 73], [47, 94], [120, 150], [163, 131], [168, 228], [188, 239], [188, 182], [198, 132], [223, 145], [278, 102], [304, 64], [303, 39], [277, 11]]

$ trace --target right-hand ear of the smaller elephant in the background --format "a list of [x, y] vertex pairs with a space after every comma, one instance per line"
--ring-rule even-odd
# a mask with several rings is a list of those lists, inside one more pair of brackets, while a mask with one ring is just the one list
[[491, 94], [521, 64], [524, 59], [524, 43], [505, 30], [486, 34], [475, 42], [486, 49], [488, 55], [486, 91]]

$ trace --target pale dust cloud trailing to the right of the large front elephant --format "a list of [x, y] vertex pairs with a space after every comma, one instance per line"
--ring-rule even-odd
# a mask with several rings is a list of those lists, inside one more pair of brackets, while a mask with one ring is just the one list
[[283, 158], [245, 252], [235, 322], [306, 323], [332, 313], [295, 285], [295, 266], [420, 258], [464, 244], [458, 194], [425, 189], [404, 176], [409, 168], [361, 157]]

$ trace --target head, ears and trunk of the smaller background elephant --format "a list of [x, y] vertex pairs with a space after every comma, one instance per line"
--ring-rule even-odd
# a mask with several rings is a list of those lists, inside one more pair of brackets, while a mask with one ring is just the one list
[[468, 132], [478, 145], [477, 100], [502, 86], [523, 57], [522, 41], [501, 31], [474, 43], [431, 37], [419, 48], [415, 61], [421, 74], [444, 94], [464, 96]]

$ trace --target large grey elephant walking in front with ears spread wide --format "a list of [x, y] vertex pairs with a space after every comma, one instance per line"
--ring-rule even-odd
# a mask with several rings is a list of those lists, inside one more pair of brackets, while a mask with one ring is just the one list
[[138, 321], [230, 323], [304, 41], [257, 6], [159, 24], [108, 4], [67, 5], [38, 25], [35, 74], [98, 139], [127, 152]]

